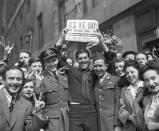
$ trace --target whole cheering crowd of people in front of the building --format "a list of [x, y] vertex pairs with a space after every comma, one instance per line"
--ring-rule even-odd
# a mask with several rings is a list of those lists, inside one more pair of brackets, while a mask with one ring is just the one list
[[[37, 58], [0, 63], [0, 131], [158, 131], [159, 61], [151, 50], [80, 48], [61, 38]], [[157, 50], [156, 50], [157, 51]]]

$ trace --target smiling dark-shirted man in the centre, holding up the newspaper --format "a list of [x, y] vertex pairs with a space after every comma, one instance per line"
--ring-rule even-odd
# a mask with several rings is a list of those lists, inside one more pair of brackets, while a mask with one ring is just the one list
[[94, 101], [94, 72], [90, 69], [90, 52], [83, 48], [75, 54], [78, 69], [66, 70], [69, 85], [70, 131], [97, 131], [97, 112]]

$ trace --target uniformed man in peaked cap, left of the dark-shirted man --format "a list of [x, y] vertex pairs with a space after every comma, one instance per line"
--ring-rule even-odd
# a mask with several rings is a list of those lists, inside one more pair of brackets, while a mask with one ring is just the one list
[[40, 55], [45, 68], [41, 91], [49, 118], [47, 131], [69, 131], [68, 81], [67, 77], [57, 70], [58, 55], [55, 48], [49, 48]]

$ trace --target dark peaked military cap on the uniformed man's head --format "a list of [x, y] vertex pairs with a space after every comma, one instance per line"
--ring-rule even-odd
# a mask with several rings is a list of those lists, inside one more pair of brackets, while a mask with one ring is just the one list
[[59, 55], [58, 50], [56, 48], [48, 48], [40, 54], [40, 59], [46, 60], [51, 57], [57, 57]]

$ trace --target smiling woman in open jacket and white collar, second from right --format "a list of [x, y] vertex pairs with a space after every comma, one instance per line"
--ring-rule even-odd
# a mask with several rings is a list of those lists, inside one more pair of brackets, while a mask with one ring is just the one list
[[119, 119], [123, 126], [123, 131], [140, 131], [140, 119], [137, 112], [137, 96], [143, 90], [143, 81], [139, 79], [137, 63], [128, 62], [124, 70], [130, 85], [122, 88], [120, 98]]

